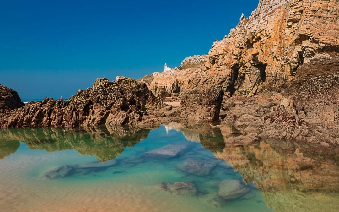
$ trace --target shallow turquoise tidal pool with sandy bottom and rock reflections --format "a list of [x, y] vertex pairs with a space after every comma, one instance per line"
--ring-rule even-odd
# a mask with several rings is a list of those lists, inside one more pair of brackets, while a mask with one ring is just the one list
[[[230, 127], [186, 129], [174, 123], [155, 130], [1, 130], [0, 211], [338, 209], [336, 150], [319, 152], [307, 144], [272, 140], [225, 147], [224, 138], [240, 133]], [[147, 156], [146, 152], [168, 144], [188, 147], [171, 158]], [[300, 155], [317, 158], [317, 164], [299, 169], [293, 158]], [[186, 169], [192, 160], [210, 167]], [[93, 161], [111, 164], [88, 164]], [[46, 172], [63, 165], [75, 171], [46, 179]], [[217, 193], [224, 180], [240, 182], [245, 192], [233, 199], [220, 198]], [[177, 195], [180, 189], [171, 193], [159, 186], [159, 182], [182, 181], [194, 185], [195, 192]], [[217, 200], [211, 201], [211, 195]]]

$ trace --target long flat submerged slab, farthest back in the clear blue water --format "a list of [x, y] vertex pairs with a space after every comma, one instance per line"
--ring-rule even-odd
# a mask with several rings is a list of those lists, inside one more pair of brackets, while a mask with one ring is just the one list
[[184, 151], [191, 146], [191, 143], [177, 143], [177, 144], [168, 144], [159, 149], [155, 149], [152, 151], [145, 152], [143, 156], [156, 158], [156, 159], [167, 159], [176, 157], [184, 153]]

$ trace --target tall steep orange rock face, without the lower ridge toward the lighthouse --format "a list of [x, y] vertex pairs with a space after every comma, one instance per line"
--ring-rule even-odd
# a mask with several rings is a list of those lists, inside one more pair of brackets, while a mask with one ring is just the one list
[[242, 95], [281, 90], [300, 65], [338, 59], [338, 16], [336, 0], [260, 0], [250, 17], [214, 42], [206, 58], [207, 72], [224, 76], [219, 83]]

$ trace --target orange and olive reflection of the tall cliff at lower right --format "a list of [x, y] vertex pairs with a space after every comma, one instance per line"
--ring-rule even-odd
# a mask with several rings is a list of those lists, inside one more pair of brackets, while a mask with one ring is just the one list
[[226, 145], [215, 155], [240, 172], [244, 181], [254, 182], [274, 211], [328, 211], [339, 201], [338, 153], [336, 147], [265, 140], [250, 146]]

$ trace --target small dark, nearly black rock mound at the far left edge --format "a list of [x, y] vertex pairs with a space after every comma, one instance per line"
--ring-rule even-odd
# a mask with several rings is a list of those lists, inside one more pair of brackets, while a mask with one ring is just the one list
[[23, 105], [24, 103], [16, 91], [0, 84], [0, 113], [4, 112], [5, 109], [21, 108]]

